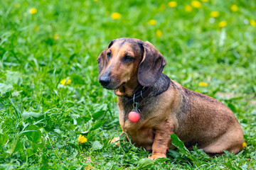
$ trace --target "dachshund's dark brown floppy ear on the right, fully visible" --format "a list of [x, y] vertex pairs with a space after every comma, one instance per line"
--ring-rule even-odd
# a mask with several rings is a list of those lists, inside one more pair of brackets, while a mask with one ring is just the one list
[[139, 64], [138, 81], [142, 86], [151, 86], [161, 76], [166, 60], [150, 42], [140, 42], [144, 48], [142, 62]]

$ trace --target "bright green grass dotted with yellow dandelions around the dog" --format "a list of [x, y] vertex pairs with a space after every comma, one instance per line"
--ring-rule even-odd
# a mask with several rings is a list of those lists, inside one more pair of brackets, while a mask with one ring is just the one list
[[[255, 22], [254, 0], [0, 0], [0, 169], [256, 169]], [[108, 144], [122, 130], [96, 59], [122, 37], [149, 40], [171, 79], [229, 106], [247, 147], [153, 162]]]

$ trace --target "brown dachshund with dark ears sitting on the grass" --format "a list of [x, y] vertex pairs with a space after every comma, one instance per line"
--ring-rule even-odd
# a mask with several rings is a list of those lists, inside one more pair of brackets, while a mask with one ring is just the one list
[[[166, 157], [173, 132], [188, 149], [210, 155], [242, 149], [242, 128], [220, 101], [188, 90], [162, 73], [166, 60], [150, 42], [135, 38], [112, 40], [97, 58], [100, 84], [118, 96], [119, 123], [137, 147]], [[141, 118], [129, 120], [139, 103]]]

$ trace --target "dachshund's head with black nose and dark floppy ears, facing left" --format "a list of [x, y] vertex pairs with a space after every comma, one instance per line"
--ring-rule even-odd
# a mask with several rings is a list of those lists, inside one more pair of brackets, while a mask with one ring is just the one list
[[115, 90], [117, 96], [132, 96], [138, 84], [151, 86], [159, 79], [166, 65], [164, 56], [154, 45], [135, 38], [110, 41], [97, 62], [100, 84]]

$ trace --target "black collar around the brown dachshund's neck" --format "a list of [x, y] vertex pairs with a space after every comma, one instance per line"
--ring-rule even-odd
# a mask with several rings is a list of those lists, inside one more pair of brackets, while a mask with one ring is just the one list
[[149, 96], [151, 91], [151, 86], [140, 87], [131, 97], [127, 97], [128, 101], [126, 104], [132, 104], [134, 102], [142, 101], [143, 98]]

